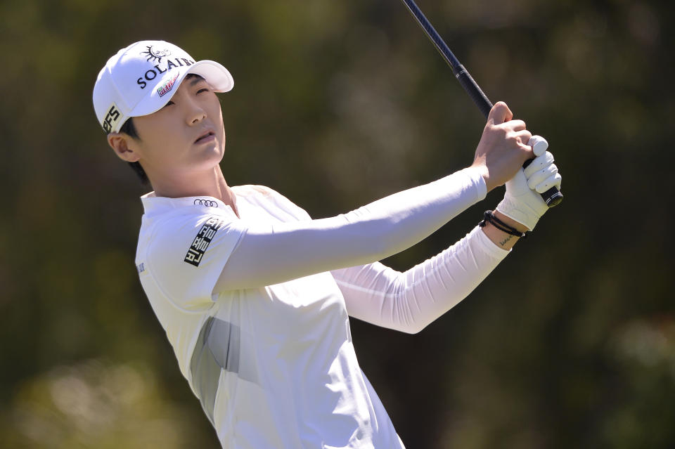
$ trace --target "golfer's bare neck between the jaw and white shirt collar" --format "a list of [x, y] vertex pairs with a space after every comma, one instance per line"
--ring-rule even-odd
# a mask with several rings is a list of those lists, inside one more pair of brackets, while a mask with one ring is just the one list
[[231, 207], [234, 213], [239, 216], [236, 196], [227, 185], [220, 165], [216, 165], [207, 174], [200, 173], [197, 176], [190, 176], [189, 178], [179, 180], [172, 179], [168, 182], [150, 179], [150, 183], [152, 183], [155, 195], [158, 197], [214, 197]]

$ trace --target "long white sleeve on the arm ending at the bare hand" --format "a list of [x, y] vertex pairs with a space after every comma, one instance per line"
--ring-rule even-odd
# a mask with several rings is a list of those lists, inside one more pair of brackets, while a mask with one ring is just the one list
[[411, 247], [486, 194], [467, 169], [330, 219], [251, 226], [217, 288], [271, 285], [371, 263]]

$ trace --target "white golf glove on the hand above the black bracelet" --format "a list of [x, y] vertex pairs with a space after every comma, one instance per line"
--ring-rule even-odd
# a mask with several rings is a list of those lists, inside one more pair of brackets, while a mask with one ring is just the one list
[[558, 173], [558, 167], [553, 164], [553, 155], [546, 151], [548, 142], [545, 138], [532, 136], [527, 145], [532, 147], [536, 157], [527, 168], [518, 170], [506, 183], [506, 194], [497, 210], [533, 230], [536, 222], [548, 210], [539, 194], [553, 186], [560, 189], [563, 178]]

